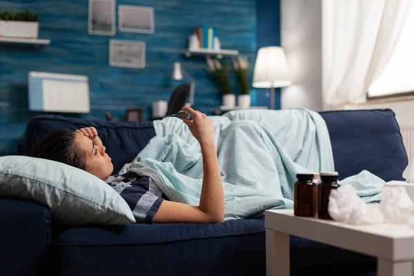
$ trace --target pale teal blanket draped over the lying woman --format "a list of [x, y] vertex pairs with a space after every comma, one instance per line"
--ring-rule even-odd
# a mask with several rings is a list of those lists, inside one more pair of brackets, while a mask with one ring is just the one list
[[[305, 109], [239, 110], [210, 117], [223, 180], [225, 219], [293, 208], [297, 173], [333, 171], [324, 119]], [[122, 168], [151, 177], [172, 201], [198, 205], [203, 179], [201, 149], [177, 118], [155, 121], [157, 136]], [[378, 201], [384, 181], [370, 172], [343, 179], [367, 202]]]

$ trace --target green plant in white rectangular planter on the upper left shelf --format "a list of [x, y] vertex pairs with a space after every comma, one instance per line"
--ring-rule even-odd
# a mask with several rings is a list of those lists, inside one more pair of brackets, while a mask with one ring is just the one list
[[26, 12], [0, 12], [0, 37], [25, 37], [36, 39], [39, 20], [30, 10]]

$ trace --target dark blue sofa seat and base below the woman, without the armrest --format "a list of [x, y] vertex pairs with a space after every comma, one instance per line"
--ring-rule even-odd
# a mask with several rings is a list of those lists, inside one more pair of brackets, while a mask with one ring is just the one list
[[[290, 248], [295, 268], [372, 261], [299, 237], [291, 237]], [[63, 230], [52, 240], [51, 256], [53, 275], [264, 275], [264, 220]]]

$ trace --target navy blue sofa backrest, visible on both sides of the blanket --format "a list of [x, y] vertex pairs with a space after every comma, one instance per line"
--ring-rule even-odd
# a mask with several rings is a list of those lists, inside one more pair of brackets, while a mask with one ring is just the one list
[[[392, 110], [342, 110], [320, 112], [320, 115], [328, 127], [335, 170], [341, 179], [369, 170], [385, 181], [404, 180], [402, 172], [408, 161]], [[132, 161], [155, 136], [152, 121], [100, 122], [40, 115], [27, 126], [25, 155], [30, 155], [34, 144], [50, 132], [86, 126], [97, 128], [112, 158], [114, 172]]]

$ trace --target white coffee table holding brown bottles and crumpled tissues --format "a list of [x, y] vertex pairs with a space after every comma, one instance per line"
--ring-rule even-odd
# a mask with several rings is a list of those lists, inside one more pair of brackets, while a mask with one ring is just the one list
[[290, 275], [289, 235], [378, 258], [378, 276], [413, 276], [414, 230], [407, 225], [352, 226], [295, 217], [293, 210], [266, 210], [266, 273]]

